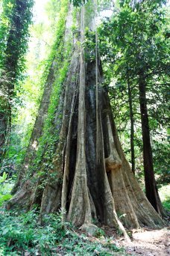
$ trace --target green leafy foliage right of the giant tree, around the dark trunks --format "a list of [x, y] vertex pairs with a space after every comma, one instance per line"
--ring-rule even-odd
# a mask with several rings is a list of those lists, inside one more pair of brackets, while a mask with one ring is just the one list
[[[110, 92], [113, 114], [129, 160], [129, 100], [133, 104], [134, 147], [138, 156], [136, 168], [139, 173], [142, 170], [142, 134], [138, 82], [139, 72], [142, 70], [145, 74], [149, 125], [155, 143], [154, 168], [159, 174], [157, 177], [161, 177], [161, 172], [168, 174], [166, 129], [169, 121], [169, 41], [166, 34], [169, 22], [163, 5], [165, 3], [166, 1], [119, 1], [119, 8], [115, 7], [113, 16], [104, 19], [98, 29], [105, 85]], [[127, 81], [130, 84], [131, 99], [128, 98]], [[160, 140], [163, 140], [162, 143]]]

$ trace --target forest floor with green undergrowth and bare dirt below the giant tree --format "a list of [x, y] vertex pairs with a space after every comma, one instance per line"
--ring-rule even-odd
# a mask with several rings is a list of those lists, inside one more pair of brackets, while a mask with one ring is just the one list
[[[160, 191], [163, 206], [166, 208], [166, 227], [162, 229], [141, 228], [127, 231], [131, 243], [125, 243], [114, 228], [101, 225], [95, 237], [73, 229], [72, 225], [60, 223], [58, 215], [45, 216], [45, 225], [39, 223], [39, 213], [9, 212], [1, 206], [0, 200], [0, 256], [10, 255], [143, 255], [170, 256], [170, 186]], [[5, 190], [6, 189], [6, 190]], [[4, 194], [10, 187], [5, 183]], [[2, 198], [3, 199], [3, 198]], [[120, 249], [120, 250], [119, 250]]]

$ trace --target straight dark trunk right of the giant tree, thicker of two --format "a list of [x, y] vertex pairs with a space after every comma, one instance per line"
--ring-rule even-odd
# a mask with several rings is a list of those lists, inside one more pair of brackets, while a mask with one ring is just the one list
[[158, 194], [157, 184], [154, 177], [153, 156], [151, 150], [151, 138], [148, 121], [148, 109], [146, 100], [145, 76], [142, 70], [139, 73], [139, 103], [142, 122], [143, 142], [143, 165], [145, 173], [145, 193], [148, 201], [152, 204], [157, 213], [163, 216], [163, 207]]

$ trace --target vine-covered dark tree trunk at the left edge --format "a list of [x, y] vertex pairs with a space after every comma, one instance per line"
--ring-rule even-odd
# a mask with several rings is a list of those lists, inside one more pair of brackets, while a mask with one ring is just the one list
[[[0, 91], [0, 162], [5, 156], [7, 143], [10, 141], [10, 130], [15, 97], [15, 85], [23, 72], [23, 57], [28, 40], [28, 25], [31, 19], [32, 0], [13, 1], [12, 13], [7, 13], [10, 29], [4, 35], [5, 45], [1, 58], [1, 91]], [[8, 8], [4, 4], [4, 8]], [[7, 38], [6, 38], [7, 37]]]

